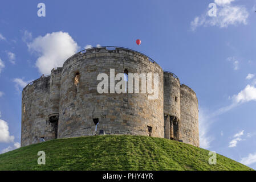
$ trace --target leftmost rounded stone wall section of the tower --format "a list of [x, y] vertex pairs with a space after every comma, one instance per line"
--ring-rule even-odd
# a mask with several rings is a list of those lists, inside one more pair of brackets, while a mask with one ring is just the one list
[[40, 138], [54, 139], [48, 122], [50, 76], [39, 78], [22, 91], [21, 146], [38, 143]]

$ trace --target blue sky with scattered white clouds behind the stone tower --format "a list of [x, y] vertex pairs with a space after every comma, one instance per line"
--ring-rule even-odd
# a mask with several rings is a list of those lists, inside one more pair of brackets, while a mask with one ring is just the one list
[[23, 86], [100, 44], [175, 73], [197, 93], [201, 147], [256, 169], [255, 10], [255, 0], [1, 1], [0, 153], [19, 147]]

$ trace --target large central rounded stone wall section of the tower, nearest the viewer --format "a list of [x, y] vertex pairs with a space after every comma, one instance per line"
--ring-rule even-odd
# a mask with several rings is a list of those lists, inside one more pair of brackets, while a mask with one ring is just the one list
[[[157, 73], [158, 98], [149, 100], [148, 92], [98, 93], [97, 84], [101, 80], [97, 80], [97, 76], [105, 73], [110, 79], [110, 69], [115, 69], [115, 75]], [[115, 84], [117, 82], [119, 80]], [[60, 84], [58, 138], [94, 135], [100, 130], [105, 134], [164, 138], [163, 71], [147, 56], [123, 48], [87, 49], [86, 53], [77, 53], [63, 64]]]

